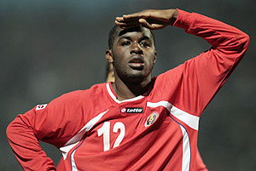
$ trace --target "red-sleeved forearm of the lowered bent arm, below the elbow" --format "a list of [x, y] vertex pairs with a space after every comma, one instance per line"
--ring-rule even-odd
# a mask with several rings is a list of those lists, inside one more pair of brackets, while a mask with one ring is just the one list
[[9, 145], [24, 170], [55, 170], [54, 162], [42, 150], [32, 127], [20, 116], [9, 124], [6, 134]]

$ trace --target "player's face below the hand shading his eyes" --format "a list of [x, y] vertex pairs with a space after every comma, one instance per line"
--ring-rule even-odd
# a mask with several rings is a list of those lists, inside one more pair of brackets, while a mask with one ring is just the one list
[[129, 82], [151, 79], [156, 56], [154, 40], [147, 28], [122, 30], [113, 42], [111, 50], [115, 77]]

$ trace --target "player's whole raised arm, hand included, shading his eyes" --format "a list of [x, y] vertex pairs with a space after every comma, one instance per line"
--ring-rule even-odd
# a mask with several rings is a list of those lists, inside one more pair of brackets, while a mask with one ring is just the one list
[[[116, 25], [130, 28], [142, 24], [149, 29], [161, 29], [165, 26], [177, 26], [187, 33], [204, 38], [212, 48], [183, 65], [167, 72], [169, 77], [180, 76], [182, 86], [177, 87], [173, 105], [184, 111], [200, 116], [201, 112], [212, 100], [218, 89], [222, 87], [231, 72], [247, 51], [249, 37], [237, 28], [207, 16], [188, 13], [181, 9], [147, 9], [135, 14], [117, 17]], [[171, 44], [172, 45], [172, 44]], [[168, 80], [168, 79], [167, 79]], [[169, 79], [166, 87], [175, 85]], [[182, 106], [183, 100], [186, 103]]]

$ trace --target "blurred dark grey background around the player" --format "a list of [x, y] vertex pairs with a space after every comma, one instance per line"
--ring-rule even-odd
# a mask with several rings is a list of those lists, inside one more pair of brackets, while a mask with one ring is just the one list
[[[222, 20], [251, 37], [245, 58], [201, 117], [198, 146], [211, 171], [256, 170], [255, 0], [1, 0], [0, 170], [22, 170], [5, 135], [17, 114], [104, 81], [108, 31], [116, 16], [170, 8]], [[176, 27], [154, 34], [154, 76], [210, 48]], [[60, 152], [42, 146], [57, 164]]]

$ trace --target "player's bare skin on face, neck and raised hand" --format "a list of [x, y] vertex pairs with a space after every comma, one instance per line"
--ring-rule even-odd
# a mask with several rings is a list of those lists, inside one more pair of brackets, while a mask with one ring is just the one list
[[147, 92], [156, 61], [153, 37], [148, 29], [162, 29], [177, 19], [176, 9], [148, 9], [117, 17], [118, 36], [106, 59], [113, 64], [113, 90], [118, 100], [127, 100]]

